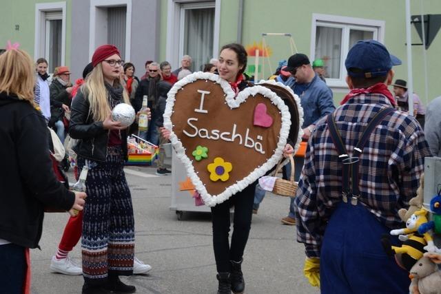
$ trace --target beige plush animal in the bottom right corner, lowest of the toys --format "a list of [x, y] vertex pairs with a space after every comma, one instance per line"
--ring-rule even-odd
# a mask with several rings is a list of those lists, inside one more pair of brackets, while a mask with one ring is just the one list
[[422, 257], [410, 270], [410, 293], [441, 294], [441, 271], [430, 258]]

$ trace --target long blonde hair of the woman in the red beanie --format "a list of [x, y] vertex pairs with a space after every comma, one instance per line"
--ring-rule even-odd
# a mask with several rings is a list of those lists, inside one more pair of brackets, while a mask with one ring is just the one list
[[[81, 87], [84, 96], [88, 98], [90, 103], [89, 114], [92, 114], [92, 118], [95, 121], [103, 121], [109, 116], [112, 109], [110, 109], [109, 102], [107, 101], [107, 90], [105, 89], [105, 81], [103, 75], [103, 65], [97, 64], [92, 72], [88, 74], [85, 79], [84, 87]], [[119, 85], [119, 78], [116, 78], [113, 86]], [[122, 87], [122, 86], [121, 86]], [[130, 104], [127, 91], [123, 91], [124, 103]]]

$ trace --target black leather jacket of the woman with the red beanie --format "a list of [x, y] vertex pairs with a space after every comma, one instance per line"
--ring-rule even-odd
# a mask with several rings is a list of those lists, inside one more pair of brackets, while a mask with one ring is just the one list
[[[109, 99], [117, 99], [108, 94]], [[123, 102], [121, 98], [119, 99]], [[102, 121], [94, 121], [89, 112], [89, 99], [83, 93], [83, 87], [76, 93], [72, 101], [69, 134], [71, 138], [80, 139], [73, 150], [83, 158], [104, 162], [107, 156], [109, 130], [103, 128]], [[127, 132], [121, 131], [123, 156], [127, 160]]]

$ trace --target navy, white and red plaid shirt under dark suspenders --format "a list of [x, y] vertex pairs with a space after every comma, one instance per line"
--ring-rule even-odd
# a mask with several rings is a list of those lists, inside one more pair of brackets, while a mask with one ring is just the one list
[[[360, 94], [336, 109], [349, 156], [363, 128], [384, 107], [391, 103], [382, 94]], [[359, 202], [387, 227], [400, 226], [398, 209], [416, 195], [426, 156], [431, 153], [416, 119], [398, 110], [386, 116], [360, 156]], [[327, 222], [340, 201], [342, 167], [324, 117], [309, 138], [295, 201], [297, 240], [305, 243], [307, 256], [320, 257]]]

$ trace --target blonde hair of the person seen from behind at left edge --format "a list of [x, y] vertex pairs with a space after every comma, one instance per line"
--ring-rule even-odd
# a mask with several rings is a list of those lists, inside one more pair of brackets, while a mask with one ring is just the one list
[[0, 92], [33, 104], [34, 83], [34, 62], [28, 53], [10, 49], [0, 55]]

